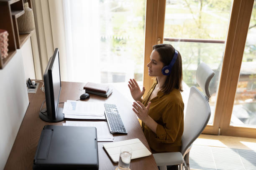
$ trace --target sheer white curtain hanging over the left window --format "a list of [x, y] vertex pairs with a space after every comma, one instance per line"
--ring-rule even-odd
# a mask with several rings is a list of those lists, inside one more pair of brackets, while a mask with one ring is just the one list
[[67, 80], [100, 82], [98, 0], [63, 0]]

